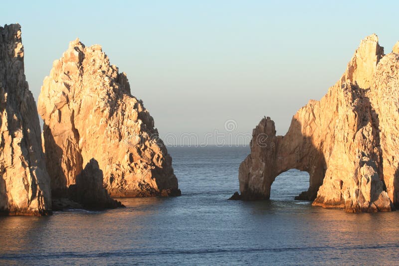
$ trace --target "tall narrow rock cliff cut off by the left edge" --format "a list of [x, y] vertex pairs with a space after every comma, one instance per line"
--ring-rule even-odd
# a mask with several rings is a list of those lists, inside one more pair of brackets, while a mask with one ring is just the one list
[[0, 27], [0, 135], [0, 212], [51, 213], [50, 179], [18, 24]]

